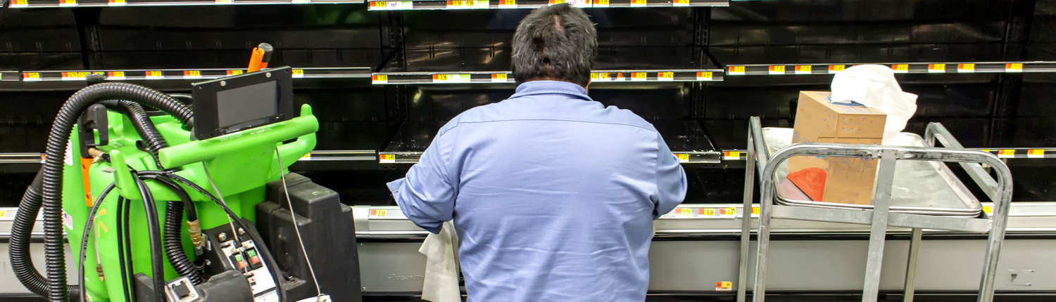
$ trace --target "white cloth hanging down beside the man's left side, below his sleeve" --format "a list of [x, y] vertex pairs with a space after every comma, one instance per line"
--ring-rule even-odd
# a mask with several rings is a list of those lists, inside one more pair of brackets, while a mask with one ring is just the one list
[[421, 300], [433, 302], [460, 302], [458, 289], [458, 260], [455, 258], [457, 242], [454, 224], [444, 223], [440, 234], [430, 233], [418, 253], [426, 256], [426, 280], [421, 285]]

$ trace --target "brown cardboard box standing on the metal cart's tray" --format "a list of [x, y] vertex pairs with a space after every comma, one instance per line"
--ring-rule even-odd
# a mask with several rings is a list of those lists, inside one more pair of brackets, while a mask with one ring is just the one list
[[[800, 92], [792, 143], [880, 144], [887, 115], [857, 104], [833, 104], [832, 93]], [[821, 201], [870, 204], [876, 180], [876, 159], [805, 157], [789, 159], [789, 173], [819, 167], [826, 170]]]

